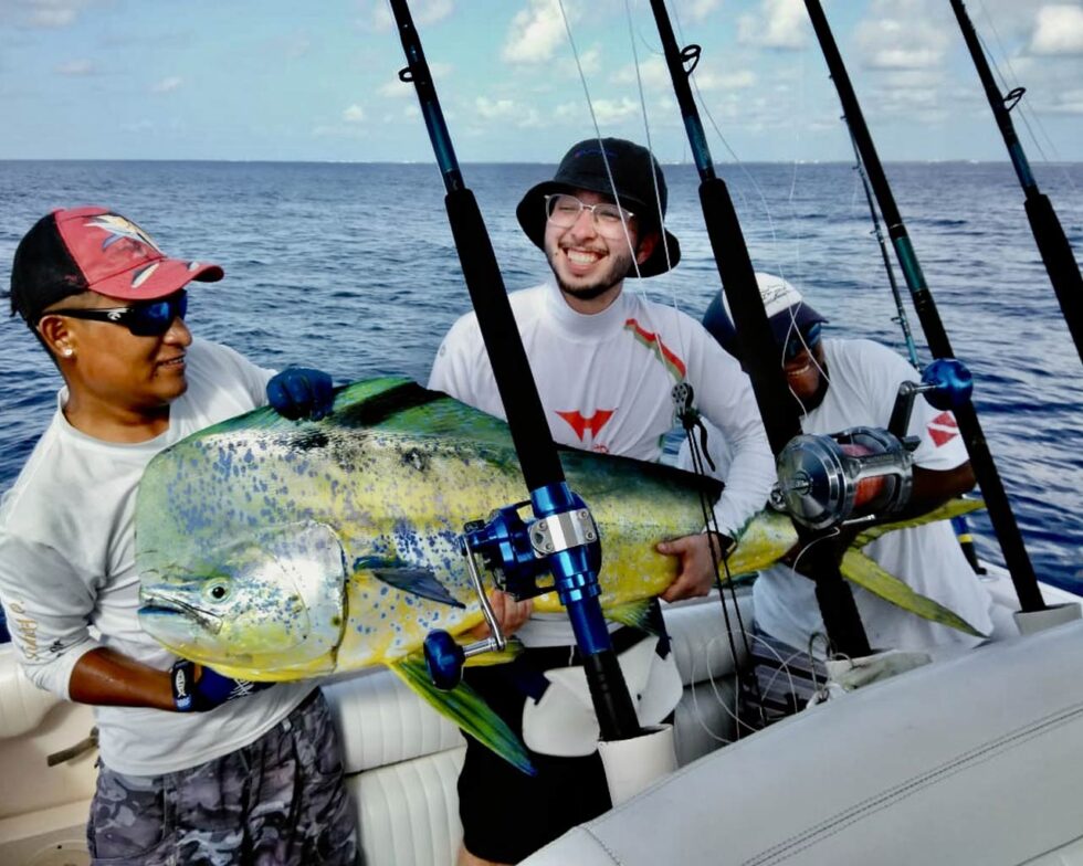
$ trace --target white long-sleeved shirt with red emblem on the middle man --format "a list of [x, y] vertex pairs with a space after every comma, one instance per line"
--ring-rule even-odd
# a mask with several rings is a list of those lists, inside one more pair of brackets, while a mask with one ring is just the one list
[[[715, 507], [719, 529], [735, 534], [764, 507], [775, 462], [748, 377], [697, 321], [627, 291], [582, 315], [551, 281], [509, 297], [555, 442], [658, 461], [676, 423], [673, 387], [686, 381], [700, 412], [734, 444]], [[429, 388], [504, 418], [474, 314], [444, 337]], [[517, 636], [527, 646], [575, 642], [561, 615], [534, 616]]]

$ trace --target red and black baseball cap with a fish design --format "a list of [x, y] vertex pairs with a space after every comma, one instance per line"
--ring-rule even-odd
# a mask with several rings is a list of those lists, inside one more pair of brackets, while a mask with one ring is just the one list
[[223, 275], [218, 265], [167, 257], [143, 229], [105, 208], [55, 210], [15, 249], [11, 315], [34, 328], [45, 309], [82, 292], [154, 300]]

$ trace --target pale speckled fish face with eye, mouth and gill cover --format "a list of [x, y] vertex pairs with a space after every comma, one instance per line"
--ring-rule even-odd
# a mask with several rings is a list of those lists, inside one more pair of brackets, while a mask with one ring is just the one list
[[178, 655], [231, 676], [327, 673], [345, 627], [345, 562], [326, 524], [261, 528], [196, 562], [144, 571], [139, 623]]

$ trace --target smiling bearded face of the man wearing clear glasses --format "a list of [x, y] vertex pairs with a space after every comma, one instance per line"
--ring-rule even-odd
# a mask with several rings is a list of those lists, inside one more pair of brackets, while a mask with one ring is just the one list
[[[612, 202], [607, 196], [577, 190], [575, 197], [583, 204]], [[627, 223], [628, 233], [617, 236], [600, 234], [593, 214], [587, 208], [568, 228], [547, 222], [545, 253], [568, 305], [579, 313], [599, 313], [620, 295], [621, 284], [633, 271], [633, 258], [642, 264], [654, 249], [656, 235], [642, 240], [637, 221]], [[634, 253], [633, 253], [634, 251]]]

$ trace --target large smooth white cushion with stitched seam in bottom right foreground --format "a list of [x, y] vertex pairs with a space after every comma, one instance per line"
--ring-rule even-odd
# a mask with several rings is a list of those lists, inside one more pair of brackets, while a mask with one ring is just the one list
[[524, 863], [1081, 863], [1081, 657], [1076, 622], [859, 689], [679, 770]]

